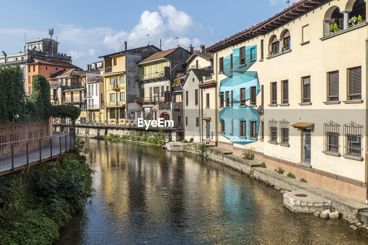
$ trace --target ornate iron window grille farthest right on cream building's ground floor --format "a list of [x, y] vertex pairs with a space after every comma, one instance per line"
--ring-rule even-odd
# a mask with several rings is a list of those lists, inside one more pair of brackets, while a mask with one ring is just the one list
[[350, 156], [362, 156], [362, 125], [353, 121], [344, 124], [344, 154]]

